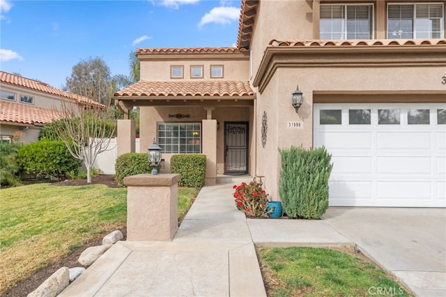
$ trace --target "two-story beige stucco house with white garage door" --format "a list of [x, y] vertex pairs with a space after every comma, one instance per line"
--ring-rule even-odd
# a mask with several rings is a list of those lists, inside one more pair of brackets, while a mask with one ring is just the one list
[[[263, 176], [279, 199], [279, 148], [325, 146], [330, 206], [446, 206], [446, 1], [243, 0], [233, 48], [138, 49], [141, 80], [115, 93], [153, 138], [204, 153], [217, 174]], [[298, 112], [291, 97], [299, 86]]]

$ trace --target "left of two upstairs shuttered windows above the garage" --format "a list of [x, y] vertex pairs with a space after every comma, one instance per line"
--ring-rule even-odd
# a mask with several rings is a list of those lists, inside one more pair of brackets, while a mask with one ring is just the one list
[[373, 11], [372, 4], [321, 4], [319, 38], [373, 39]]

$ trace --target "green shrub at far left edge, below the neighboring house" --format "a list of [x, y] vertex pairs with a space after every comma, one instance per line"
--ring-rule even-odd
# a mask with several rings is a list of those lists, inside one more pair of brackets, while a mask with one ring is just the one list
[[0, 141], [0, 183], [2, 185], [19, 185], [20, 166], [17, 162], [19, 146]]

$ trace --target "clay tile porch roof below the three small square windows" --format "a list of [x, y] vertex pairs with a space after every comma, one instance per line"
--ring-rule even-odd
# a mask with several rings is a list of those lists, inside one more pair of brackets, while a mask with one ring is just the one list
[[243, 97], [254, 96], [248, 82], [236, 81], [201, 81], [201, 82], [139, 82], [114, 93], [115, 97]]

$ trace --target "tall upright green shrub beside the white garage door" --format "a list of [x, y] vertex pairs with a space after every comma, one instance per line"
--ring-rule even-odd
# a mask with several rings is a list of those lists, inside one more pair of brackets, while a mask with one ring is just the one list
[[279, 195], [290, 218], [318, 219], [328, 209], [331, 155], [322, 148], [280, 150]]

